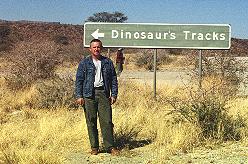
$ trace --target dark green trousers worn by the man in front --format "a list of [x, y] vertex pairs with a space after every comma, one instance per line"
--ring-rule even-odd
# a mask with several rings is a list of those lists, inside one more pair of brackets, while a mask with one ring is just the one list
[[104, 90], [95, 90], [95, 98], [84, 98], [84, 101], [84, 112], [91, 148], [99, 148], [97, 115], [104, 147], [106, 149], [114, 147], [112, 108]]

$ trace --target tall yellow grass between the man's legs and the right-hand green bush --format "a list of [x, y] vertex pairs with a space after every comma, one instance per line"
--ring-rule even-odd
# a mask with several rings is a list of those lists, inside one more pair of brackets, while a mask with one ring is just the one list
[[[121, 82], [120, 99], [116, 104], [118, 112], [115, 119], [117, 132], [125, 127], [138, 133], [133, 140], [146, 140], [152, 149], [158, 147], [167, 154], [175, 151], [191, 150], [199, 144], [199, 128], [190, 122], [178, 120], [171, 114], [171, 107], [163, 101], [155, 101], [150, 86]], [[164, 87], [159, 91], [162, 96], [175, 94], [172, 87]], [[130, 142], [132, 143], [132, 142]], [[163, 156], [166, 154], [163, 153]]]

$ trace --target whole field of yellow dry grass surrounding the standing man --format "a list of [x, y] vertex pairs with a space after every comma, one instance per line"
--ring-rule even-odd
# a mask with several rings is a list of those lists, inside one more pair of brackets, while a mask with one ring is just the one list
[[139, 72], [133, 65], [125, 66], [113, 105], [121, 155], [111, 157], [103, 151], [90, 156], [83, 110], [73, 106], [70, 76], [76, 67], [69, 67], [59, 69], [68, 79], [37, 81], [20, 90], [9, 89], [0, 79], [0, 163], [248, 161], [247, 98], [226, 97], [222, 81], [214, 78], [204, 79], [199, 94], [197, 82], [184, 83], [167, 67], [158, 72], [155, 100], [153, 73]]

